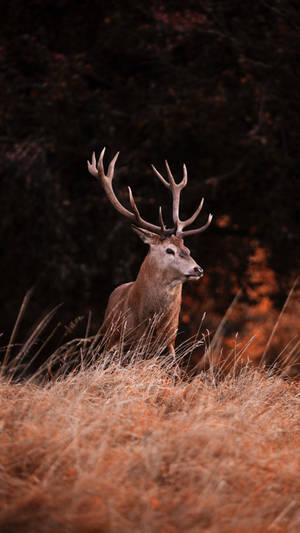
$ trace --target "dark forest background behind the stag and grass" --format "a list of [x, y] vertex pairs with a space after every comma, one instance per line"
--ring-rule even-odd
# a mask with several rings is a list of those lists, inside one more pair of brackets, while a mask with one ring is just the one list
[[155, 223], [169, 199], [150, 163], [187, 164], [182, 214], [205, 196], [214, 220], [186, 240], [206, 275], [181, 330], [206, 311], [214, 331], [241, 289], [228, 338], [254, 328], [261, 348], [299, 268], [299, 3], [11, 0], [1, 18], [0, 330], [33, 287], [24, 330], [63, 302], [62, 332], [83, 334], [90, 310], [95, 331], [135, 278], [145, 246], [86, 168], [107, 146], [119, 197], [130, 184]]

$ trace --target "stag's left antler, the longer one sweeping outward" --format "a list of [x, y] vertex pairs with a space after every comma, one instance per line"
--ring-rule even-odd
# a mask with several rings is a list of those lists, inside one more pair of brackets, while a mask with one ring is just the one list
[[92, 174], [92, 176], [100, 180], [107, 194], [107, 197], [109, 201], [111, 202], [111, 204], [114, 206], [114, 208], [117, 211], [119, 211], [121, 215], [127, 217], [132, 223], [136, 224], [139, 228], [144, 228], [149, 231], [152, 231], [153, 233], [157, 233], [158, 235], [163, 235], [163, 236], [171, 235], [172, 233], [174, 233], [174, 228], [172, 229], [166, 228], [163, 222], [163, 219], [162, 219], [161, 208], [159, 210], [160, 226], [151, 224], [151, 222], [147, 222], [141, 217], [130, 187], [128, 187], [128, 193], [129, 193], [129, 202], [132, 207], [132, 211], [129, 211], [128, 209], [126, 209], [126, 207], [124, 207], [119, 202], [118, 198], [116, 197], [114, 193], [112, 181], [114, 178], [115, 163], [118, 159], [120, 152], [117, 152], [114, 158], [109, 163], [107, 174], [105, 174], [104, 172], [104, 165], [103, 165], [104, 153], [105, 153], [105, 148], [103, 148], [100, 154], [98, 163], [96, 163], [95, 152], [93, 152], [92, 162], [90, 163], [89, 161], [87, 161], [88, 171], [90, 172], [90, 174]]

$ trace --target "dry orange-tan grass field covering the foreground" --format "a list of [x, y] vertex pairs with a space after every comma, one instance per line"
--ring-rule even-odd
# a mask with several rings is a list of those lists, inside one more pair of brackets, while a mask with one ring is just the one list
[[300, 530], [298, 384], [112, 359], [2, 377], [1, 533]]

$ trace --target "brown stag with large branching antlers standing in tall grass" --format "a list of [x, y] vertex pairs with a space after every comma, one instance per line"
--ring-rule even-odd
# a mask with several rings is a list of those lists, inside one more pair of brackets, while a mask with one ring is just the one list
[[[116, 287], [111, 293], [105, 310], [102, 332], [110, 332], [106, 348], [110, 349], [121, 340], [124, 329], [129, 332], [132, 342], [147, 331], [149, 325], [155, 324], [153, 335], [156, 339], [166, 339], [165, 348], [175, 359], [175, 341], [178, 332], [179, 313], [182, 302], [182, 285], [185, 281], [197, 281], [203, 276], [203, 269], [191, 257], [190, 250], [184, 245], [183, 239], [205, 231], [212, 221], [209, 214], [206, 224], [196, 229], [185, 229], [198, 217], [204, 203], [201, 199], [196, 211], [187, 220], [181, 220], [179, 215], [180, 195], [187, 185], [188, 175], [186, 165], [183, 165], [183, 178], [176, 183], [168, 162], [165, 161], [167, 178], [151, 165], [154, 174], [172, 195], [173, 226], [167, 227], [161, 206], [158, 209], [159, 225], [152, 224], [142, 218], [128, 187], [131, 210], [118, 200], [114, 189], [114, 169], [119, 156], [115, 154], [110, 161], [107, 173], [104, 170], [103, 148], [98, 163], [95, 152], [92, 161], [87, 161], [88, 171], [100, 181], [108, 200], [112, 206], [130, 223], [133, 231], [149, 246], [135, 281], [124, 283]], [[123, 325], [120, 325], [124, 317]]]

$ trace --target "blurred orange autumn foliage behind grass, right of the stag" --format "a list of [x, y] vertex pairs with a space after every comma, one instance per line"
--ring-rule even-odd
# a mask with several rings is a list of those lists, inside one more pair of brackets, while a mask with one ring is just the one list
[[[218, 276], [218, 292], [212, 296], [211, 278]], [[280, 316], [280, 309], [274, 304], [274, 296], [278, 292], [275, 272], [268, 265], [267, 250], [261, 246], [256, 246], [252, 256], [249, 257], [246, 271], [248, 283], [234, 307], [230, 309], [226, 324], [222, 330], [221, 344], [224, 348], [222, 359], [231, 352], [241, 351], [241, 361], [259, 361], [264, 354], [268, 340], [272, 335], [272, 342], [268, 344], [267, 356], [276, 358], [295, 337], [295, 332], [300, 330], [300, 287], [295, 287], [294, 294], [285, 308], [285, 312]], [[224, 282], [222, 283], [222, 279]], [[234, 272], [229, 274], [230, 286], [234, 287], [233, 296], [239, 292], [237, 276]], [[220, 281], [221, 280], [221, 281]], [[201, 323], [203, 313], [206, 318], [202, 325], [203, 330], [207, 328], [210, 338], [213, 337], [223, 316], [216, 311], [218, 295], [223, 295], [227, 289], [228, 276], [224, 273], [221, 265], [216, 266], [211, 272], [204, 276], [197, 287], [198, 298], [193, 298], [191, 293], [183, 299], [182, 322], [188, 324], [189, 332], [195, 334]], [[291, 283], [292, 285], [292, 283]], [[245, 299], [245, 296], [247, 297]], [[250, 302], [249, 302], [250, 300]], [[275, 329], [274, 329], [275, 328]], [[272, 334], [272, 331], [275, 331]], [[238, 339], [236, 334], [238, 333]], [[243, 351], [251, 339], [249, 346]], [[195, 354], [195, 361], [201, 358], [203, 351], [199, 350]], [[232, 355], [232, 363], [234, 356]]]

